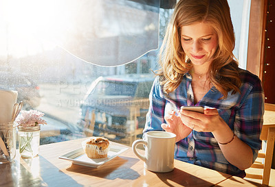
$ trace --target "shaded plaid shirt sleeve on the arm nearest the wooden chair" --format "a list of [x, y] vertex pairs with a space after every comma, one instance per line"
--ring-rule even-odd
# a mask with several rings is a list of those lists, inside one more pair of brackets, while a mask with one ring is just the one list
[[[262, 143], [260, 135], [263, 127], [264, 93], [259, 77], [253, 77], [242, 86], [242, 88], [248, 87], [250, 88], [246, 92], [245, 99], [236, 113], [234, 129], [237, 136], [251, 147], [253, 158], [256, 160]], [[243, 94], [242, 90], [241, 93]]]

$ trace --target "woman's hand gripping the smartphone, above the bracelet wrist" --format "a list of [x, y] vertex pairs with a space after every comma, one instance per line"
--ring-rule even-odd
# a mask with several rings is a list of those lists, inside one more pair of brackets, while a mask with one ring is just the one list
[[226, 125], [216, 108], [206, 108], [204, 114], [180, 110], [179, 117], [184, 125], [197, 132], [215, 132]]

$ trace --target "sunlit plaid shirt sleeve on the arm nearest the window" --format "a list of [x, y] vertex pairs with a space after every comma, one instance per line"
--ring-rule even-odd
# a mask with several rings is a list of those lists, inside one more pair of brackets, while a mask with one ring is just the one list
[[146, 123], [143, 132], [153, 130], [163, 130], [161, 125], [164, 123], [164, 109], [166, 99], [162, 86], [159, 84], [159, 77], [155, 78], [149, 95], [150, 106], [146, 114]]

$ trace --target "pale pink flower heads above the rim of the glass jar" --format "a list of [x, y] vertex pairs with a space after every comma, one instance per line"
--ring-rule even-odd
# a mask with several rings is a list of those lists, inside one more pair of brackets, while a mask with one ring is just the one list
[[34, 127], [39, 124], [47, 125], [46, 121], [42, 119], [44, 113], [37, 110], [21, 110], [21, 115], [17, 117], [16, 122], [23, 127]]

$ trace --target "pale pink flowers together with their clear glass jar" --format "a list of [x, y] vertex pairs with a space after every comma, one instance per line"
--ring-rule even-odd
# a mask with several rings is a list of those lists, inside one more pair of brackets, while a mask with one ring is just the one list
[[39, 153], [40, 125], [46, 125], [44, 114], [37, 110], [21, 111], [17, 117], [19, 152], [23, 157], [33, 158]]

